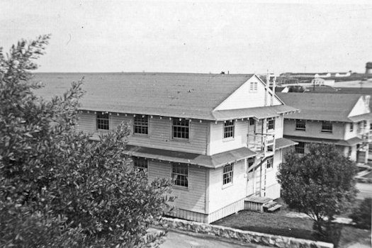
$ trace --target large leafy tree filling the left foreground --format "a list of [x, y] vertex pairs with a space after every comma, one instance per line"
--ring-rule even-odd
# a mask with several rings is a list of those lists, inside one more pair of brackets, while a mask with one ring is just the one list
[[146, 246], [171, 181], [135, 169], [124, 124], [100, 137], [75, 130], [82, 81], [46, 101], [30, 83], [50, 36], [0, 48], [0, 246]]

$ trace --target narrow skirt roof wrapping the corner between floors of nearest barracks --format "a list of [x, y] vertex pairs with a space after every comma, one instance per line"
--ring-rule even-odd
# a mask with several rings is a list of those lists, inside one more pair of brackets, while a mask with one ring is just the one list
[[222, 167], [225, 164], [230, 164], [240, 159], [255, 157], [257, 155], [256, 152], [249, 150], [247, 147], [242, 147], [228, 152], [221, 152], [212, 156], [189, 152], [161, 150], [150, 147], [137, 147], [134, 145], [127, 145], [126, 150], [127, 154], [130, 156], [146, 157], [147, 159], [159, 159], [167, 162], [195, 164], [211, 169]]

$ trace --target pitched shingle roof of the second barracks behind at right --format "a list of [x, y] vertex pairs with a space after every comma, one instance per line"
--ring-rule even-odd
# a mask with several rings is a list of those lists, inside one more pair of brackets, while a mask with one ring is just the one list
[[361, 95], [356, 94], [306, 94], [277, 93], [284, 103], [299, 108], [299, 113], [286, 115], [286, 118], [305, 120], [328, 120], [353, 122], [349, 113]]

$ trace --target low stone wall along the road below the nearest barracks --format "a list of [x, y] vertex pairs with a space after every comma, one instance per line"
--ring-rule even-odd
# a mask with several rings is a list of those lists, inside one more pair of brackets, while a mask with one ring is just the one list
[[239, 242], [269, 245], [271, 247], [333, 248], [333, 244], [326, 242], [317, 242], [308, 239], [297, 239], [294, 237], [269, 235], [260, 232], [243, 231], [230, 227], [208, 225], [205, 223], [192, 222], [188, 220], [179, 220], [173, 218], [162, 218], [162, 221], [159, 222], [158, 225], [165, 229], [178, 229], [188, 232], [198, 232], [205, 235], [213, 235], [218, 237], [225, 237], [228, 239], [236, 239]]

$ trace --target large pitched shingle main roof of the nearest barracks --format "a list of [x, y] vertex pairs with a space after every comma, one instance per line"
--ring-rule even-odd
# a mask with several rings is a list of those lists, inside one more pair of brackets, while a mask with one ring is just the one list
[[[217, 107], [254, 74], [40, 73], [39, 96], [62, 94], [84, 77], [81, 109], [218, 120]], [[247, 118], [247, 116], [245, 116]], [[232, 117], [234, 118], [234, 117]]]

